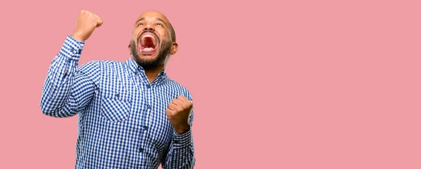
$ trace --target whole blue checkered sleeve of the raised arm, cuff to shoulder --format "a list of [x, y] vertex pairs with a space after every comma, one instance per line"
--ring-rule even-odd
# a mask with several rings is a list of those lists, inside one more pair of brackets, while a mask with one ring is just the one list
[[99, 68], [88, 62], [78, 68], [84, 43], [67, 36], [48, 68], [42, 87], [41, 111], [47, 116], [69, 117], [78, 114], [91, 101], [96, 90]]

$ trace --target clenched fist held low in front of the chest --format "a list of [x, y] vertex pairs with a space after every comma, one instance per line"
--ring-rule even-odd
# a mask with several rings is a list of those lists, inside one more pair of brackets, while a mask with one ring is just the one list
[[183, 96], [179, 96], [168, 104], [168, 109], [165, 112], [173, 124], [175, 132], [180, 135], [190, 130], [189, 115], [192, 107], [193, 103]]

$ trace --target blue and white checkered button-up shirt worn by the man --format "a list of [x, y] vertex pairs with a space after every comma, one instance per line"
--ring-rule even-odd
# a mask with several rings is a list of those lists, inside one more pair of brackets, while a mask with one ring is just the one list
[[83, 45], [66, 37], [41, 96], [48, 116], [78, 114], [75, 168], [193, 168], [192, 130], [179, 135], [165, 113], [179, 95], [192, 101], [189, 90], [165, 71], [149, 83], [132, 58], [78, 67]]

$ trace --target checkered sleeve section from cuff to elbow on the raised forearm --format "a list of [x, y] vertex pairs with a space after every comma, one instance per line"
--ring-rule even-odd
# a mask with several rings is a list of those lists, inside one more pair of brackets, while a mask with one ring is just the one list
[[76, 114], [77, 103], [71, 90], [82, 48], [83, 43], [67, 36], [51, 62], [41, 95], [41, 111], [44, 114], [55, 117]]

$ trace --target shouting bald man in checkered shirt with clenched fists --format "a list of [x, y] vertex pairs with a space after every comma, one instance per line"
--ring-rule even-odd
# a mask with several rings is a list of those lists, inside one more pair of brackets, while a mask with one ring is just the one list
[[101, 25], [95, 13], [79, 13], [41, 96], [48, 116], [79, 114], [75, 168], [193, 168], [192, 97], [165, 72], [178, 48], [171, 23], [157, 11], [142, 13], [131, 58], [78, 67], [85, 41]]

